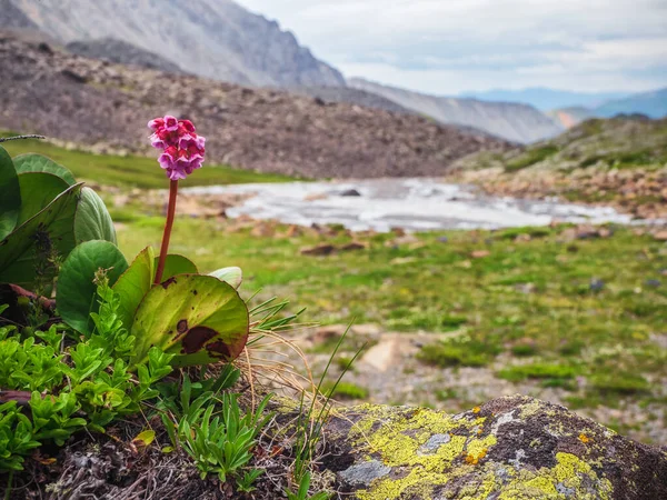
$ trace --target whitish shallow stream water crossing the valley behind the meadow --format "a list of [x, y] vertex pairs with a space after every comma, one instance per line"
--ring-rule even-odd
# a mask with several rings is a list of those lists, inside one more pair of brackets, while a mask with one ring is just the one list
[[229, 217], [248, 214], [285, 223], [341, 223], [348, 229], [414, 231], [495, 229], [563, 222], [630, 222], [606, 207], [489, 197], [474, 188], [437, 179], [369, 179], [345, 182], [289, 182], [190, 188], [196, 193], [250, 193]]

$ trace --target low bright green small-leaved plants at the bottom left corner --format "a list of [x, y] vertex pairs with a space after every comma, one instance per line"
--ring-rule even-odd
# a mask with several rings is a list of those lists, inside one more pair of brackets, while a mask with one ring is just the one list
[[135, 339], [117, 319], [108, 280], [100, 274], [98, 281], [99, 330], [89, 338], [62, 324], [26, 338], [13, 326], [0, 328], [0, 388], [10, 399], [0, 407], [0, 436], [13, 436], [0, 439], [0, 472], [21, 470], [24, 457], [43, 443], [63, 446], [74, 432], [103, 432], [115, 419], [138, 413], [171, 372], [171, 354], [153, 348], [132, 378]]

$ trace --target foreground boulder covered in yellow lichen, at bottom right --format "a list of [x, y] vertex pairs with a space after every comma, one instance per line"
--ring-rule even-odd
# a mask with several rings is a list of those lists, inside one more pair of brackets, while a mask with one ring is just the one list
[[325, 468], [361, 500], [667, 499], [667, 451], [527, 397], [456, 416], [356, 407], [325, 434]]

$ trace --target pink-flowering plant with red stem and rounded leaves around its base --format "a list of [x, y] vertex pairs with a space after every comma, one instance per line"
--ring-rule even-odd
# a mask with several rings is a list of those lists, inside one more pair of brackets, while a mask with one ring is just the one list
[[[169, 254], [176, 217], [178, 181], [201, 168], [206, 139], [189, 120], [167, 116], [149, 122], [150, 141], [161, 150], [159, 166], [170, 182], [169, 206], [159, 256], [143, 249], [131, 264], [112, 243], [91, 241], [77, 247], [62, 264], [57, 306], [63, 320], [83, 334], [91, 334], [89, 304], [96, 304], [98, 270], [118, 296], [118, 319], [136, 338], [132, 366], [148, 359], [152, 347], [173, 354], [172, 366], [206, 364], [236, 359], [246, 347], [249, 316], [237, 288], [239, 268], [199, 274], [193, 262]], [[67, 291], [67, 293], [61, 293]], [[94, 308], [93, 308], [94, 309]]]

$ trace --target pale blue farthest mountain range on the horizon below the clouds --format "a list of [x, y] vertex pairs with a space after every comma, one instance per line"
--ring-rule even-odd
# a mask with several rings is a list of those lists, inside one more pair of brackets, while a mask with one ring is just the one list
[[465, 92], [461, 97], [475, 98], [481, 101], [521, 102], [531, 104], [539, 110], [550, 111], [563, 108], [595, 108], [606, 101], [620, 99], [627, 92], [569, 92], [546, 88], [522, 90], [489, 90], [486, 92]]

